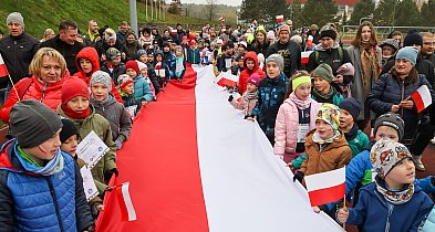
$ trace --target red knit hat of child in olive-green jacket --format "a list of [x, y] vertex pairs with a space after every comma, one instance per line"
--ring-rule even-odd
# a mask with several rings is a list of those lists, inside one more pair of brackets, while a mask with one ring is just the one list
[[62, 104], [66, 105], [70, 99], [76, 96], [83, 96], [89, 99], [90, 88], [83, 80], [72, 76], [62, 84]]

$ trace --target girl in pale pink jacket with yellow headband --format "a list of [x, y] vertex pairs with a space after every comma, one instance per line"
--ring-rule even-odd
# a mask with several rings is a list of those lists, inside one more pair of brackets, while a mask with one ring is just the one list
[[273, 152], [286, 164], [304, 152], [305, 135], [315, 128], [315, 112], [320, 105], [311, 99], [311, 77], [296, 75], [289, 83], [275, 125]]

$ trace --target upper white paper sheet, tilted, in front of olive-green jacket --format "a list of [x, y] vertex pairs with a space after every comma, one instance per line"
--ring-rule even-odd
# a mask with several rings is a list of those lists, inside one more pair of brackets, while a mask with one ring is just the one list
[[106, 155], [108, 147], [104, 141], [92, 130], [79, 145], [77, 156], [83, 159], [87, 167], [92, 169], [99, 160]]

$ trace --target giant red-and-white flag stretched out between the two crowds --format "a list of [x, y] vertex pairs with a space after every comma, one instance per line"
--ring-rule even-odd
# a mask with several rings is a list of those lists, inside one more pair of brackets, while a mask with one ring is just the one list
[[187, 67], [183, 83], [142, 108], [112, 179], [130, 182], [137, 219], [123, 221], [107, 192], [97, 231], [342, 231], [312, 211], [258, 124], [240, 117], [214, 77], [211, 66]]

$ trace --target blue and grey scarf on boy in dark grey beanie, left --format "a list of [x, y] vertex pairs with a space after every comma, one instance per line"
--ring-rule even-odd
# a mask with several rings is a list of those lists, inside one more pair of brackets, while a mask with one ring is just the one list
[[44, 167], [35, 164], [35, 161], [28, 154], [25, 154], [18, 144], [13, 146], [13, 151], [17, 154], [17, 158], [20, 160], [20, 164], [24, 170], [32, 173], [52, 176], [60, 172], [64, 166], [64, 160], [60, 148], [58, 148], [54, 158], [49, 160]]

